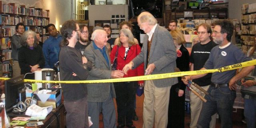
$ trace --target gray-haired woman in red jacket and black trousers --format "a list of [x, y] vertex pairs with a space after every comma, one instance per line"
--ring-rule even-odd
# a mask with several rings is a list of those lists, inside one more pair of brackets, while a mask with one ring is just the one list
[[[133, 58], [140, 53], [140, 46], [134, 42], [134, 37], [129, 29], [122, 29], [119, 32], [118, 44], [113, 47], [110, 59], [113, 60], [117, 54], [117, 66], [116, 70], [122, 70], [125, 64], [128, 64]], [[124, 77], [142, 76], [144, 67], [143, 64], [129, 70]], [[132, 123], [132, 117], [134, 113], [134, 100], [136, 89], [139, 86], [144, 86], [144, 81], [132, 81], [132, 82], [116, 82], [114, 83], [116, 91], [116, 104], [118, 112], [118, 127], [123, 128], [136, 128]]]

